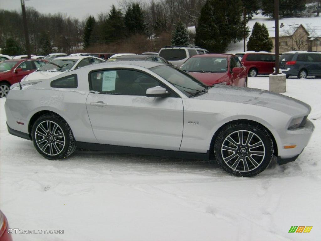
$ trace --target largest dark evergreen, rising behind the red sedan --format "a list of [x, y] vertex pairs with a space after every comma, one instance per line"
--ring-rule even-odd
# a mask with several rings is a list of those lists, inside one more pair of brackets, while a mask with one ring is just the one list
[[196, 26], [195, 44], [210, 52], [222, 53], [228, 44], [243, 38], [241, 0], [207, 0]]

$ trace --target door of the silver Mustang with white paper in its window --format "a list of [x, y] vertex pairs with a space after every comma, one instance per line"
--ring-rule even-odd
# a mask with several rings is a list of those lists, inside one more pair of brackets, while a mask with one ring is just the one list
[[[106, 69], [89, 75], [86, 106], [101, 144], [178, 151], [183, 135], [183, 102], [154, 77], [133, 69]], [[146, 97], [166, 87], [169, 97]]]

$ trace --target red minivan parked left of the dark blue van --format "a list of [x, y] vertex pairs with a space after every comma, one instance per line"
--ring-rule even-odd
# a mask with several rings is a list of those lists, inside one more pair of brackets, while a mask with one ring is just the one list
[[241, 62], [247, 68], [249, 77], [272, 74], [275, 67], [275, 54], [268, 52], [245, 53]]

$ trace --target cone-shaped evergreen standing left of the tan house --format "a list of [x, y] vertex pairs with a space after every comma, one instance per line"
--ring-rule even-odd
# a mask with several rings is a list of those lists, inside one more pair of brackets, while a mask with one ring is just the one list
[[253, 26], [252, 34], [247, 42], [247, 50], [271, 52], [273, 42], [269, 39], [269, 32], [265, 24], [256, 22]]

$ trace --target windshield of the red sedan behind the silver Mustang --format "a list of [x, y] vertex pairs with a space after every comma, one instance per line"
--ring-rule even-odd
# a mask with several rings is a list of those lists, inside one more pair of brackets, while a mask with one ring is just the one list
[[189, 58], [181, 66], [188, 72], [223, 73], [227, 71], [227, 58], [224, 57], [195, 57]]

